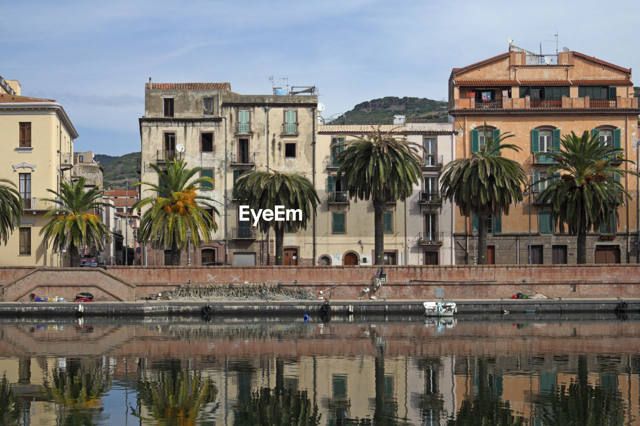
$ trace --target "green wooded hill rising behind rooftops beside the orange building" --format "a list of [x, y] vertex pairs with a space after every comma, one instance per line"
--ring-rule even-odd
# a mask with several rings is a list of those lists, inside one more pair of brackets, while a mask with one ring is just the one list
[[394, 115], [411, 119], [440, 119], [447, 116], [447, 102], [427, 98], [387, 96], [362, 102], [337, 119], [354, 123], [392, 123]]

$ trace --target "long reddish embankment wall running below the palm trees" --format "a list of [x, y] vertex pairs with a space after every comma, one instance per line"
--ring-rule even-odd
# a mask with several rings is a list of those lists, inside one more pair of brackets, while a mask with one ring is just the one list
[[[0, 267], [3, 301], [29, 294], [72, 300], [90, 292], [96, 300], [132, 301], [186, 283], [282, 283], [324, 291], [326, 299], [357, 299], [377, 267], [249, 266], [99, 268]], [[374, 296], [387, 299], [495, 299], [536, 291], [551, 297], [637, 297], [640, 265], [389, 266], [387, 283]], [[372, 293], [367, 294], [369, 297]]]

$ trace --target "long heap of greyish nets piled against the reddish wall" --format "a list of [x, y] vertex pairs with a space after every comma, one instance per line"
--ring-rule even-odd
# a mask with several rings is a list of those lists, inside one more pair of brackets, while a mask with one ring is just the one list
[[[164, 294], [163, 294], [164, 296]], [[188, 284], [171, 292], [174, 300], [317, 300], [304, 288], [284, 287], [280, 284]]]

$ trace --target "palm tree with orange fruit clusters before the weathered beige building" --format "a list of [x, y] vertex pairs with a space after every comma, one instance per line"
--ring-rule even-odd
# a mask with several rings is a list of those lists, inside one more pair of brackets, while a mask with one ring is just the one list
[[[193, 177], [202, 167], [186, 168], [182, 159], [167, 161], [167, 170], [163, 171], [157, 164], [149, 164], [159, 177], [159, 182], [138, 182], [135, 185], [148, 185], [145, 191], [155, 194], [138, 201], [131, 207], [142, 209], [150, 205], [150, 209], [142, 214], [140, 221], [141, 241], [152, 242], [165, 249], [171, 249], [171, 264], [180, 265], [180, 251], [187, 248], [187, 231], [193, 232], [192, 241], [197, 247], [201, 242], [211, 241], [211, 232], [218, 230], [218, 224], [213, 214], [206, 209], [212, 209], [218, 214], [214, 201], [208, 196], [196, 194], [202, 189], [200, 184], [213, 187], [210, 177]], [[193, 179], [193, 180], [192, 180]]]

